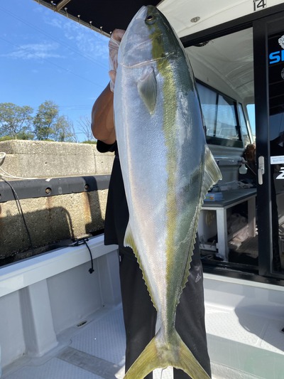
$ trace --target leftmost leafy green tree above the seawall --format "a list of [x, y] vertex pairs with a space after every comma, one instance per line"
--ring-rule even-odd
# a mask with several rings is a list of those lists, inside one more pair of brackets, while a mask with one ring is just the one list
[[31, 132], [32, 113], [33, 108], [28, 105], [20, 107], [12, 102], [0, 103], [0, 136], [17, 139], [20, 134], [28, 135]]

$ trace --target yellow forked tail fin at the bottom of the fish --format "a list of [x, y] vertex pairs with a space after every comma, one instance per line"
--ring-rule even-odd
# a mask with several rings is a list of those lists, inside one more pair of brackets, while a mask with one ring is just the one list
[[163, 331], [158, 331], [140, 356], [126, 372], [124, 379], [143, 379], [155, 368], [173, 366], [185, 371], [192, 379], [208, 379], [209, 375], [173, 329], [166, 341]]

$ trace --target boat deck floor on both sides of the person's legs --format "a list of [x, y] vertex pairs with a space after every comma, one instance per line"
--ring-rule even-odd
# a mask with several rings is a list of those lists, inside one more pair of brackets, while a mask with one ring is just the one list
[[[213, 378], [284, 378], [284, 315], [279, 309], [272, 319], [270, 311], [251, 309], [206, 304]], [[6, 367], [3, 378], [123, 378], [124, 337], [121, 306], [101, 309], [62, 333], [58, 346], [47, 355], [21, 358]], [[162, 376], [161, 371], [155, 370], [154, 379], [173, 378], [171, 368], [163, 370]]]

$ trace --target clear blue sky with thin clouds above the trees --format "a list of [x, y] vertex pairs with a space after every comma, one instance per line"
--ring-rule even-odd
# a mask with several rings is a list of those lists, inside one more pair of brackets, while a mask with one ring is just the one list
[[0, 102], [45, 100], [72, 120], [79, 141], [81, 119], [109, 81], [108, 38], [34, 0], [0, 3]]

